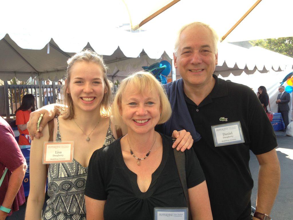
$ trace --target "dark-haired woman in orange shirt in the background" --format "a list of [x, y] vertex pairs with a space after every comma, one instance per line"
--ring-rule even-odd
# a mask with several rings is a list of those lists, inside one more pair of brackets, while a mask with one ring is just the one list
[[16, 109], [16, 125], [19, 131], [19, 145], [30, 145], [30, 136], [26, 129], [26, 123], [30, 119], [30, 113], [35, 111], [35, 97], [32, 94], [24, 95], [21, 106]]

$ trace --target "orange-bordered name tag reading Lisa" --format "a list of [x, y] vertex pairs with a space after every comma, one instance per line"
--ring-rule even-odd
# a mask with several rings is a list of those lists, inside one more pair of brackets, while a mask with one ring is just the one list
[[44, 142], [43, 164], [71, 163], [73, 160], [73, 141]]

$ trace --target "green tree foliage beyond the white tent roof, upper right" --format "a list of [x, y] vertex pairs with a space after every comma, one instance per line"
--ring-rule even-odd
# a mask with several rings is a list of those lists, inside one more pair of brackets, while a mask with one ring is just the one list
[[253, 46], [259, 46], [276, 53], [293, 57], [293, 37], [252, 40], [249, 41], [249, 43]]

